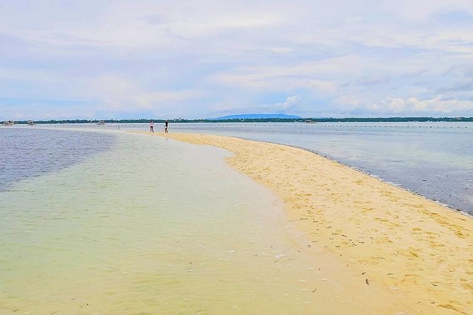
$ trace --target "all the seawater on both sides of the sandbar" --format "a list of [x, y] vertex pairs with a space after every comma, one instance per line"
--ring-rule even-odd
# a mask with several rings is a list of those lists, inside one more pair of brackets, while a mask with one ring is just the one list
[[[356, 290], [301, 254], [281, 202], [230, 153], [127, 130], [148, 125], [0, 127], [0, 314], [349, 314]], [[472, 123], [169, 132], [293, 145], [473, 214]]]

